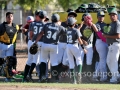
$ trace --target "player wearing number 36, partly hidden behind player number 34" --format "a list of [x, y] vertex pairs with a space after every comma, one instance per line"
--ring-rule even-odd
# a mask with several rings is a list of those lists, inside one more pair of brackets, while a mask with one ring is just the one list
[[[38, 36], [38, 34], [41, 32], [43, 26], [45, 25], [44, 21], [47, 17], [47, 12], [46, 11], [40, 11], [39, 12], [39, 19], [36, 22], [32, 23], [32, 26], [30, 27], [30, 38], [32, 38], [32, 41], [34, 42]], [[40, 48], [42, 46], [42, 40], [41, 38], [39, 42], [37, 42], [38, 47]], [[33, 55], [33, 61], [29, 70], [29, 78], [32, 79], [32, 71], [34, 70], [36, 64], [40, 64], [40, 56], [41, 56], [41, 51], [39, 51]]]

